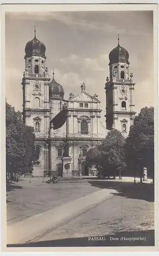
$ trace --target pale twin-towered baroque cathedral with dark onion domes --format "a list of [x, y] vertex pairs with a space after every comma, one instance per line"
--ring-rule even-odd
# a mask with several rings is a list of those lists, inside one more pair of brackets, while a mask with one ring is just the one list
[[103, 127], [98, 96], [88, 94], [83, 83], [77, 95], [70, 93], [70, 98], [64, 99], [64, 89], [56, 82], [54, 73], [50, 81], [45, 45], [36, 35], [27, 42], [22, 79], [23, 118], [26, 125], [34, 127], [35, 150], [39, 153], [34, 176], [43, 176], [44, 172], [61, 177], [96, 173], [85, 162], [87, 151], [101, 143], [112, 127], [127, 136], [135, 114], [134, 82], [132, 75], [129, 79], [128, 52], [120, 48], [118, 45], [109, 54]]

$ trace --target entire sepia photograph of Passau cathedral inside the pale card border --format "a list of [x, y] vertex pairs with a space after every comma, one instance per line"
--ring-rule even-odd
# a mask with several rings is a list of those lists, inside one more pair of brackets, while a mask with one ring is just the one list
[[5, 11], [7, 248], [157, 245], [154, 11], [100, 8]]

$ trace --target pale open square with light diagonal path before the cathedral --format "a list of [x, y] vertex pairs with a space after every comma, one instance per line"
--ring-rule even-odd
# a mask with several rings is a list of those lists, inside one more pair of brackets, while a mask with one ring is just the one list
[[18, 186], [22, 188], [7, 196], [9, 244], [154, 229], [152, 184], [91, 180], [47, 184], [26, 178]]

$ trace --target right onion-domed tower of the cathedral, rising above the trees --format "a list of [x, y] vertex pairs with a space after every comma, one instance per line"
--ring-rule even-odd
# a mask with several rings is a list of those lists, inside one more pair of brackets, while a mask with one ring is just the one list
[[128, 136], [134, 119], [133, 91], [134, 81], [129, 75], [129, 53], [118, 46], [109, 53], [109, 78], [106, 78], [106, 127], [115, 129]]

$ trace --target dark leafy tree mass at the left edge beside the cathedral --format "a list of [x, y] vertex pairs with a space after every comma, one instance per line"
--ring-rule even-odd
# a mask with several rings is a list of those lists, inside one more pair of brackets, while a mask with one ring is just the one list
[[33, 169], [34, 139], [33, 127], [25, 125], [21, 113], [6, 102], [6, 172], [11, 179], [17, 172]]

